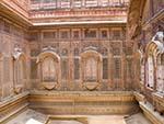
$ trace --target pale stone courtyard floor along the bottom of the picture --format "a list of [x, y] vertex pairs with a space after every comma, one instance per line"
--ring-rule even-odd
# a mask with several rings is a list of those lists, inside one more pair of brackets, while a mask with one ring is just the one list
[[28, 109], [4, 124], [151, 124], [142, 113], [126, 119], [124, 115], [55, 115], [51, 120], [48, 119], [47, 115]]

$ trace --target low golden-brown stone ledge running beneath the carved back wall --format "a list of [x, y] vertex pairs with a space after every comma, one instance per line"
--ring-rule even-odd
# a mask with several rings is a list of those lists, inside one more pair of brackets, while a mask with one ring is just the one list
[[32, 91], [30, 108], [45, 114], [131, 114], [139, 111], [132, 92]]

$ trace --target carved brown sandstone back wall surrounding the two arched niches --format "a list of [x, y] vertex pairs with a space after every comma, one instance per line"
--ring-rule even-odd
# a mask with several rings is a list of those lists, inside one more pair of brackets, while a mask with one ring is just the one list
[[[132, 88], [133, 49], [132, 43], [126, 42], [126, 25], [95, 24], [93, 26], [72, 25], [52, 29], [38, 26], [31, 30], [31, 79], [34, 89], [44, 89], [42, 79], [46, 70], [38, 66], [36, 60], [45, 49], [57, 54], [60, 58], [60, 71], [58, 71], [60, 82], [56, 90], [86, 90], [83, 82], [94, 81], [94, 79], [85, 79], [83, 72], [94, 74], [90, 72], [92, 70], [98, 72], [95, 74], [99, 77], [95, 80], [98, 82], [97, 90], [130, 90]], [[94, 54], [90, 54], [91, 52], [101, 56], [99, 66], [92, 68], [84, 64], [85, 58], [94, 57]], [[83, 53], [89, 53], [84, 61]]]

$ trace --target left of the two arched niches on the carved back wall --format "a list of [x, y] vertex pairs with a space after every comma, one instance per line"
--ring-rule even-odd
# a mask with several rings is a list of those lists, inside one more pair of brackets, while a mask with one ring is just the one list
[[51, 49], [37, 57], [42, 84], [47, 90], [57, 89], [60, 82], [60, 57]]

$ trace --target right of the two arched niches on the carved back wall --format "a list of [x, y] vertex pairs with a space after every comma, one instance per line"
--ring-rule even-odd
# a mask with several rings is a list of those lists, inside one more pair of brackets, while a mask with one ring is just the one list
[[87, 90], [95, 90], [102, 80], [102, 55], [89, 49], [81, 54], [82, 84]]

